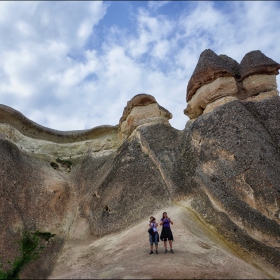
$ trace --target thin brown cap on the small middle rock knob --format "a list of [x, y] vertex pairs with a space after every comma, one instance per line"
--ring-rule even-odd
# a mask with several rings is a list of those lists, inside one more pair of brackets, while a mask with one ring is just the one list
[[157, 103], [156, 99], [149, 94], [140, 93], [135, 95], [130, 101], [127, 101], [126, 107], [124, 107], [122, 117], [120, 118], [119, 125], [126, 120], [131, 110], [136, 106], [147, 106], [149, 104]]

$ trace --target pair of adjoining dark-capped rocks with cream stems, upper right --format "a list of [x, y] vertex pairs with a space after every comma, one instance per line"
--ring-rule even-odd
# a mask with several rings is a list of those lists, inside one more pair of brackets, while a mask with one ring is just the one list
[[[194, 119], [209, 112], [209, 110], [204, 111], [206, 106], [212, 110], [224, 103], [216, 102], [218, 99], [229, 100], [229, 98], [224, 99], [226, 96], [246, 100], [258, 94], [262, 94], [264, 98], [271, 94], [263, 95], [263, 93], [278, 93], [276, 75], [279, 73], [279, 68], [278, 63], [260, 51], [249, 52], [239, 64], [226, 55], [217, 56], [211, 50], [205, 50], [189, 81], [188, 105], [184, 113], [190, 119]], [[228, 72], [222, 69], [227, 69]], [[225, 78], [224, 76], [230, 76], [229, 73], [232, 77]], [[218, 84], [221, 85], [218, 87]], [[215, 102], [215, 105], [210, 105], [212, 102]]]

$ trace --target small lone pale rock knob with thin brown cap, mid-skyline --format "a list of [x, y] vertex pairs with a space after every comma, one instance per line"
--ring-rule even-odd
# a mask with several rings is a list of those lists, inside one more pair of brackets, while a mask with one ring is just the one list
[[119, 121], [119, 139], [126, 140], [139, 125], [169, 124], [172, 114], [160, 106], [149, 94], [137, 94], [127, 102]]

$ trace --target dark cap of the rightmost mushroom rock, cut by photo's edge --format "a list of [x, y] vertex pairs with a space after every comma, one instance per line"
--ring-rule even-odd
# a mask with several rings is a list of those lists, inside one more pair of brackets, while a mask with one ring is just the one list
[[278, 75], [280, 64], [264, 55], [261, 51], [248, 52], [240, 62], [240, 80], [258, 74]]

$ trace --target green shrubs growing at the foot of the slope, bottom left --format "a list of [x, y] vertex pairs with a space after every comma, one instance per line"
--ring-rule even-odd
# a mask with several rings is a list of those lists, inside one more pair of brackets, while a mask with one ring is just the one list
[[40, 240], [47, 241], [54, 237], [55, 234], [49, 232], [29, 232], [23, 231], [22, 237], [17, 242], [20, 244], [20, 255], [15, 258], [12, 263], [10, 260], [7, 262], [11, 264], [11, 268], [4, 271], [3, 265], [0, 266], [0, 279], [19, 279], [20, 271], [31, 261], [40, 258], [45, 246], [41, 246]]

